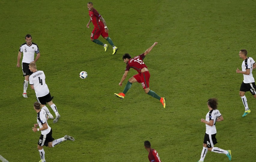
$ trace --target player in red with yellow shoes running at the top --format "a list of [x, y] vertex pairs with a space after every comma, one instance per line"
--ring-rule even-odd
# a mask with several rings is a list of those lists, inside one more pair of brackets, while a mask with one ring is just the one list
[[91, 22], [93, 22], [93, 25], [94, 25], [94, 28], [93, 28], [93, 31], [91, 34], [91, 41], [104, 46], [104, 49], [106, 52], [108, 49], [108, 44], [104, 44], [98, 40], [99, 36], [102, 35], [102, 37], [105, 38], [105, 40], [107, 40], [108, 43], [113, 47], [112, 54], [115, 54], [117, 52], [118, 48], [114, 45], [112, 40], [108, 37], [108, 28], [107, 28], [105, 20], [98, 13], [98, 11], [95, 8], [93, 8], [93, 2], [88, 2], [87, 8], [89, 10], [90, 20], [86, 26], [87, 26], [87, 28], [89, 28], [89, 25]]

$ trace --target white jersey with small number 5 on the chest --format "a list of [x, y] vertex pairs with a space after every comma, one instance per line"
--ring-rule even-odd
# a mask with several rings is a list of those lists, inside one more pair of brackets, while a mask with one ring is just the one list
[[20, 46], [20, 52], [23, 52], [23, 63], [31, 63], [34, 61], [35, 53], [39, 53], [39, 49], [37, 44], [31, 43], [31, 46], [27, 45], [27, 43], [24, 43]]

